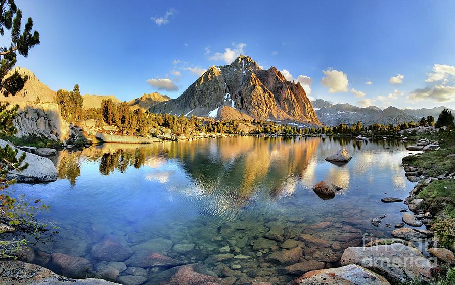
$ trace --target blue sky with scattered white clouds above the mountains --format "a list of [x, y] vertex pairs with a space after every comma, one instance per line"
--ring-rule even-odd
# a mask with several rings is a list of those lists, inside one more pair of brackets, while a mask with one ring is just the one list
[[453, 1], [16, 3], [41, 36], [18, 64], [53, 90], [78, 83], [125, 101], [176, 98], [242, 53], [285, 70], [315, 99], [455, 108]]

